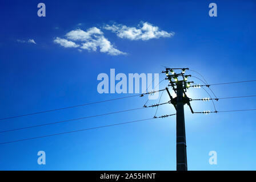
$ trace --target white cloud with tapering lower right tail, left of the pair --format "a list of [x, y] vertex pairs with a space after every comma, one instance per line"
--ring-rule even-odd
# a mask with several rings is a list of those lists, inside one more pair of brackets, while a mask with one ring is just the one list
[[[100, 52], [113, 56], [126, 54], [125, 52], [114, 48], [113, 44], [111, 44], [110, 41], [105, 38], [103, 32], [97, 27], [91, 27], [87, 31], [83, 31], [81, 29], [72, 30], [67, 32], [65, 36], [69, 40], [57, 38], [54, 40], [54, 42], [61, 44], [63, 47], [79, 47], [78, 51], [81, 49], [86, 49], [87, 51], [97, 51], [99, 48]], [[79, 42], [81, 46], [75, 42]]]

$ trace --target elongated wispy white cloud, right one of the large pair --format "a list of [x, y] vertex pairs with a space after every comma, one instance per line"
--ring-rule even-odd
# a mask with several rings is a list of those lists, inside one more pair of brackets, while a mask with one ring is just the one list
[[153, 26], [150, 23], [142, 23], [141, 25], [136, 27], [127, 27], [122, 24], [112, 24], [111, 26], [107, 24], [107, 26], [103, 27], [106, 30], [110, 30], [117, 34], [119, 38], [122, 39], [130, 39], [130, 40], [149, 40], [149, 39], [158, 39], [158, 38], [170, 38], [174, 35], [174, 32], [166, 32], [163, 30], [159, 30], [158, 27]]

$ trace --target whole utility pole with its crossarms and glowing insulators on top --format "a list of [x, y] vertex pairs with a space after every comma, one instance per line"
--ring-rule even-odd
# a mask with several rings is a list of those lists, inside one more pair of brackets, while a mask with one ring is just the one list
[[[175, 73], [174, 69], [182, 69], [181, 73]], [[185, 132], [185, 116], [184, 116], [184, 105], [187, 104], [190, 107], [192, 113], [194, 113], [190, 106], [190, 98], [186, 96], [186, 90], [190, 87], [191, 82], [187, 82], [187, 77], [191, 75], [184, 75], [188, 68], [166, 68], [166, 80], [169, 80], [174, 92], [177, 97], [173, 98], [166, 88], [167, 93], [170, 97], [170, 102], [176, 109], [176, 162], [177, 171], [187, 171], [187, 150], [186, 150], [186, 132]], [[169, 75], [169, 71], [171, 75]], [[182, 76], [182, 80], [178, 80], [178, 77]], [[174, 81], [173, 81], [173, 80]]]

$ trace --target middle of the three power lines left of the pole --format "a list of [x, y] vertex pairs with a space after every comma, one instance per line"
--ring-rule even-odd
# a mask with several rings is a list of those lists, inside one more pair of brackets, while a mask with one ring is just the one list
[[115, 112], [112, 112], [112, 113], [105, 113], [105, 114], [98, 114], [98, 115], [90, 115], [90, 116], [82, 117], [82, 118], [67, 119], [67, 120], [62, 120], [62, 121], [57, 121], [57, 122], [45, 123], [45, 124], [41, 124], [41, 125], [34, 125], [34, 126], [21, 127], [21, 128], [18, 128], [18, 129], [11, 129], [11, 130], [0, 131], [0, 133], [7, 133], [7, 132], [10, 132], [10, 131], [18, 131], [18, 130], [31, 129], [31, 128], [34, 128], [34, 127], [42, 127], [42, 126], [55, 125], [55, 124], [58, 124], [58, 123], [64, 123], [64, 122], [70, 122], [70, 121], [78, 121], [78, 120], [81, 120], [81, 119], [95, 118], [95, 117], [100, 117], [100, 116], [103, 116], [103, 115], [124, 113], [124, 112], [127, 112], [127, 111], [139, 110], [139, 109], [144, 109], [144, 108], [147, 108], [147, 107], [156, 107], [156, 106], [164, 105], [164, 104], [168, 104], [168, 103], [169, 103], [169, 102], [165, 102], [165, 103], [162, 103], [162, 104], [156, 104], [156, 105], [151, 105], [151, 106], [146, 106], [146, 107], [139, 107], [139, 108], [135, 108], [135, 109], [128, 109], [128, 110], [115, 111]]

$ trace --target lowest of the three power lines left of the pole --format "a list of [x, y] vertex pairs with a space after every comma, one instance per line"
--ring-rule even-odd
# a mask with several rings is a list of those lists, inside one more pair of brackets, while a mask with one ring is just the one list
[[79, 131], [100, 129], [100, 128], [103, 128], [103, 127], [110, 127], [110, 126], [117, 126], [117, 125], [125, 125], [125, 124], [128, 124], [128, 123], [135, 123], [135, 122], [140, 122], [140, 121], [148, 121], [148, 120], [157, 119], [157, 118], [166, 118], [166, 117], [169, 117], [169, 116], [171, 116], [171, 115], [175, 115], [175, 114], [162, 115], [161, 117], [140, 119], [140, 120], [136, 120], [136, 121], [129, 121], [129, 122], [123, 122], [123, 123], [116, 123], [116, 124], [113, 124], [113, 125], [104, 125], [104, 126], [91, 127], [91, 128], [87, 128], [87, 129], [81, 129], [81, 130], [67, 131], [67, 132], [63, 132], [63, 133], [56, 133], [56, 134], [50, 134], [50, 135], [43, 135], [43, 136], [39, 136], [39, 137], [32, 137], [32, 138], [25, 138], [25, 139], [19, 139], [19, 140], [12, 140], [12, 141], [9, 141], [9, 142], [2, 142], [2, 143], [0, 143], [0, 144], [22, 142], [22, 141], [25, 141], [25, 140], [39, 139], [39, 138], [45, 138], [45, 137], [53, 137], [53, 136], [56, 136], [56, 135], [63, 135], [63, 134], [76, 133], [76, 132], [79, 132]]

